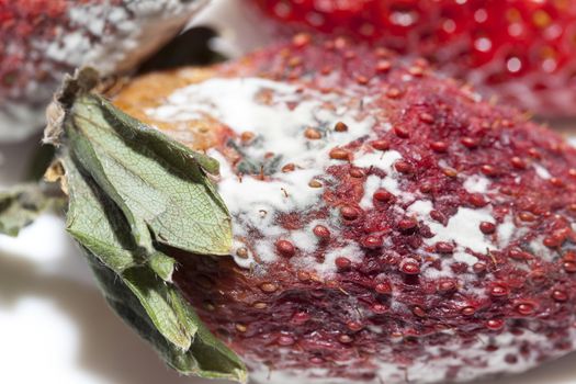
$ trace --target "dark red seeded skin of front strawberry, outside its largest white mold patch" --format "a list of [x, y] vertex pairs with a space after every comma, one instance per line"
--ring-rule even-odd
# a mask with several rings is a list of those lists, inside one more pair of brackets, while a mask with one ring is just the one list
[[[260, 261], [242, 268], [178, 256], [174, 281], [255, 380], [444, 383], [520, 372], [574, 349], [576, 151], [557, 134], [434, 76], [425, 61], [342, 38], [300, 35], [217, 72], [294, 84], [303, 100], [316, 91], [355, 98], [360, 116], [374, 118], [369, 136], [329, 151], [313, 206], [266, 213], [280, 236], [242, 228], [248, 248], [274, 247], [272, 261], [256, 255]], [[239, 139], [230, 134], [219, 150]], [[391, 151], [400, 155], [392, 169], [364, 161]], [[278, 173], [234, 178], [273, 182], [298, 170], [282, 161]], [[369, 187], [388, 177], [400, 192]], [[323, 226], [310, 228], [315, 221]], [[318, 238], [312, 251], [295, 238], [303, 230]], [[342, 255], [326, 274], [317, 266], [328, 249]]]

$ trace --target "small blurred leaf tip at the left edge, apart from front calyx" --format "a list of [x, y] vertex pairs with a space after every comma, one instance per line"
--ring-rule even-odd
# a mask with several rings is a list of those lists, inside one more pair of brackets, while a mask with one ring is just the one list
[[0, 192], [0, 234], [16, 236], [39, 214], [58, 205], [61, 196], [50, 195], [44, 187], [27, 183]]

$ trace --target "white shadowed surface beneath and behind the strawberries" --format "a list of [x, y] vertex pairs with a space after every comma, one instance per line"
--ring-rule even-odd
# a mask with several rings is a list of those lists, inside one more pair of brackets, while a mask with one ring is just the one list
[[[253, 45], [258, 35], [252, 24], [230, 19], [241, 14], [239, 1], [226, 7], [217, 1], [202, 19], [236, 29], [236, 34], [228, 31], [230, 50]], [[19, 180], [37, 143], [0, 145], [0, 187]], [[45, 215], [16, 239], [0, 235], [0, 383], [208, 382], [179, 377], [112, 314], [61, 219]], [[523, 375], [482, 382], [488, 383], [576, 384], [576, 354]]]

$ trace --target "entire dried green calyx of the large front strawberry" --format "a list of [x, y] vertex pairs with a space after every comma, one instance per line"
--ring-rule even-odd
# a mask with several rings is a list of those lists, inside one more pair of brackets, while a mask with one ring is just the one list
[[[116, 313], [182, 374], [246, 383], [241, 360], [172, 284], [176, 260], [229, 255], [228, 211], [197, 154], [90, 92], [94, 72], [65, 81], [48, 110], [69, 195], [67, 229], [86, 250]], [[193, 253], [193, 255], [192, 255]]]

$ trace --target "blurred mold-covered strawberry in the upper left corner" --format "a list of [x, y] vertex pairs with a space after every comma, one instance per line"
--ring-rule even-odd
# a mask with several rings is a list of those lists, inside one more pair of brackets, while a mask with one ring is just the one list
[[180, 31], [204, 1], [0, 0], [0, 140], [44, 125], [63, 74], [125, 71]]

